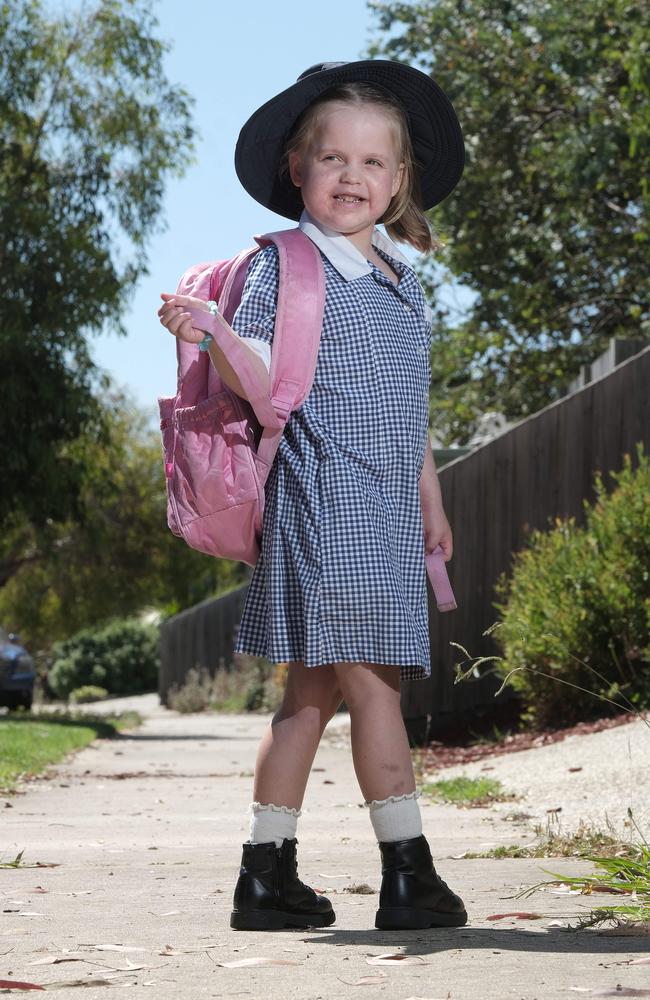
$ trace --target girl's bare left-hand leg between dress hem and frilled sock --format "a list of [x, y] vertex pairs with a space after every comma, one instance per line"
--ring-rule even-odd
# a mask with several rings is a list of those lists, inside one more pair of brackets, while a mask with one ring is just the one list
[[325, 726], [342, 696], [332, 666], [289, 664], [282, 706], [260, 743], [255, 764], [256, 802], [300, 809]]

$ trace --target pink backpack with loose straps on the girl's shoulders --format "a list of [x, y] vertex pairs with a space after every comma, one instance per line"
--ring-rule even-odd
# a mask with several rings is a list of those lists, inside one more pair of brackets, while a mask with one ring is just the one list
[[[158, 400], [170, 530], [199, 552], [250, 566], [259, 555], [264, 484], [287, 420], [314, 380], [325, 305], [323, 264], [309, 237], [290, 229], [255, 240], [257, 247], [231, 260], [191, 267], [177, 292], [217, 302], [231, 323], [251, 260], [275, 244], [280, 274], [270, 396], [246, 348], [232, 343], [216, 317], [190, 310], [193, 325], [210, 333], [226, 354], [250, 402], [224, 385], [207, 352], [182, 340], [176, 341], [176, 395]], [[426, 563], [438, 608], [452, 610], [442, 550]]]

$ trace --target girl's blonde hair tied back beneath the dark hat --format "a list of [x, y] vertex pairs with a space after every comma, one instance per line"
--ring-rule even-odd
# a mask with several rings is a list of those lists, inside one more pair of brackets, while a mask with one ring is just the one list
[[397, 194], [393, 196], [384, 215], [378, 222], [383, 223], [386, 232], [398, 243], [410, 243], [422, 253], [430, 253], [440, 246], [431, 231], [427, 217], [422, 211], [420, 183], [417, 164], [413, 154], [413, 144], [406, 114], [401, 104], [383, 88], [368, 83], [342, 83], [331, 87], [312, 101], [296, 122], [280, 161], [279, 175], [289, 175], [289, 157], [300, 154], [313, 139], [318, 126], [318, 116], [326, 104], [372, 104], [384, 110], [395, 128], [398, 156], [404, 164], [402, 181]]

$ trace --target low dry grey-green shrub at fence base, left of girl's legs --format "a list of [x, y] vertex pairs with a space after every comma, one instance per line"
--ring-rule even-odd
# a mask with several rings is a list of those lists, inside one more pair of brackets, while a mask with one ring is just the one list
[[274, 712], [280, 707], [286, 664], [273, 667], [267, 660], [237, 656], [230, 670], [220, 667], [214, 676], [205, 668], [190, 670], [182, 687], [169, 690], [169, 707], [176, 712]]

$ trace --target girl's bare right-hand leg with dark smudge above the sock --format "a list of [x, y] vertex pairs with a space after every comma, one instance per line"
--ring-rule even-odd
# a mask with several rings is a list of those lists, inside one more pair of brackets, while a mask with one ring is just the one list
[[399, 667], [336, 663], [334, 669], [350, 711], [352, 759], [366, 802], [414, 792]]

